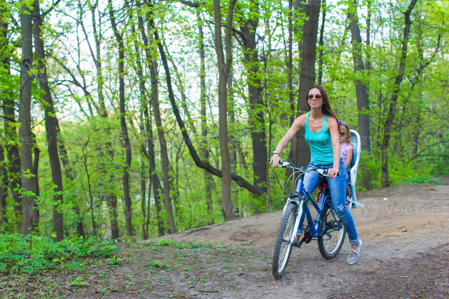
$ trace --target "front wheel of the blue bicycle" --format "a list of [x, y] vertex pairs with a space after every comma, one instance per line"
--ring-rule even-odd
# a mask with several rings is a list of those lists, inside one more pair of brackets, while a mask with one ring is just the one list
[[284, 275], [291, 254], [291, 241], [296, 234], [296, 204], [290, 203], [282, 216], [273, 253], [273, 277], [279, 279]]

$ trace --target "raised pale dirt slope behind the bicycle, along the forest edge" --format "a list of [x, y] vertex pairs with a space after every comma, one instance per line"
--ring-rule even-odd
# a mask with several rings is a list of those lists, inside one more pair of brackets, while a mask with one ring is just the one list
[[[395, 186], [361, 192], [357, 194], [357, 200], [364, 204], [365, 208], [352, 209], [351, 212], [362, 239], [375, 234], [396, 234], [396, 231], [408, 230], [409, 226], [414, 224], [446, 221], [449, 216], [449, 186]], [[271, 212], [160, 238], [216, 244], [273, 244], [281, 217], [282, 211]]]

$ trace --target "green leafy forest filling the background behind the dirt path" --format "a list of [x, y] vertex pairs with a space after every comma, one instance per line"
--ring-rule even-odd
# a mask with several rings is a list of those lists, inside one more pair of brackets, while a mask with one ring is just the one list
[[[358, 190], [449, 174], [447, 1], [0, 0], [0, 14], [2, 235], [148, 239], [277, 211], [287, 177], [267, 160], [314, 84], [361, 135]], [[299, 131], [281, 158], [306, 166], [308, 151]]]

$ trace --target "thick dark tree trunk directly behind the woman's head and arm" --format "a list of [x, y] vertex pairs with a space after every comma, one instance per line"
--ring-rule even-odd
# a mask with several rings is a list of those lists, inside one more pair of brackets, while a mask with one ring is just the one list
[[[296, 116], [307, 112], [307, 91], [315, 82], [315, 59], [317, 54], [318, 18], [320, 17], [321, 0], [309, 0], [306, 8], [306, 21], [304, 21], [303, 43], [307, 47], [302, 49], [301, 67], [299, 71], [299, 92]], [[291, 160], [297, 166], [307, 166], [310, 161], [310, 149], [304, 138], [303, 128], [298, 130], [290, 145]]]

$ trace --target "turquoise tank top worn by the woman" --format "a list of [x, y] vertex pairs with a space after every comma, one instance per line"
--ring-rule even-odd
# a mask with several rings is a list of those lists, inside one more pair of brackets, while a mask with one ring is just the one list
[[304, 130], [306, 131], [305, 139], [310, 147], [310, 161], [315, 165], [334, 163], [332, 140], [330, 139], [329, 129], [327, 129], [327, 114], [324, 116], [323, 128], [317, 133], [310, 132], [308, 128], [309, 114], [310, 111], [307, 113]]

